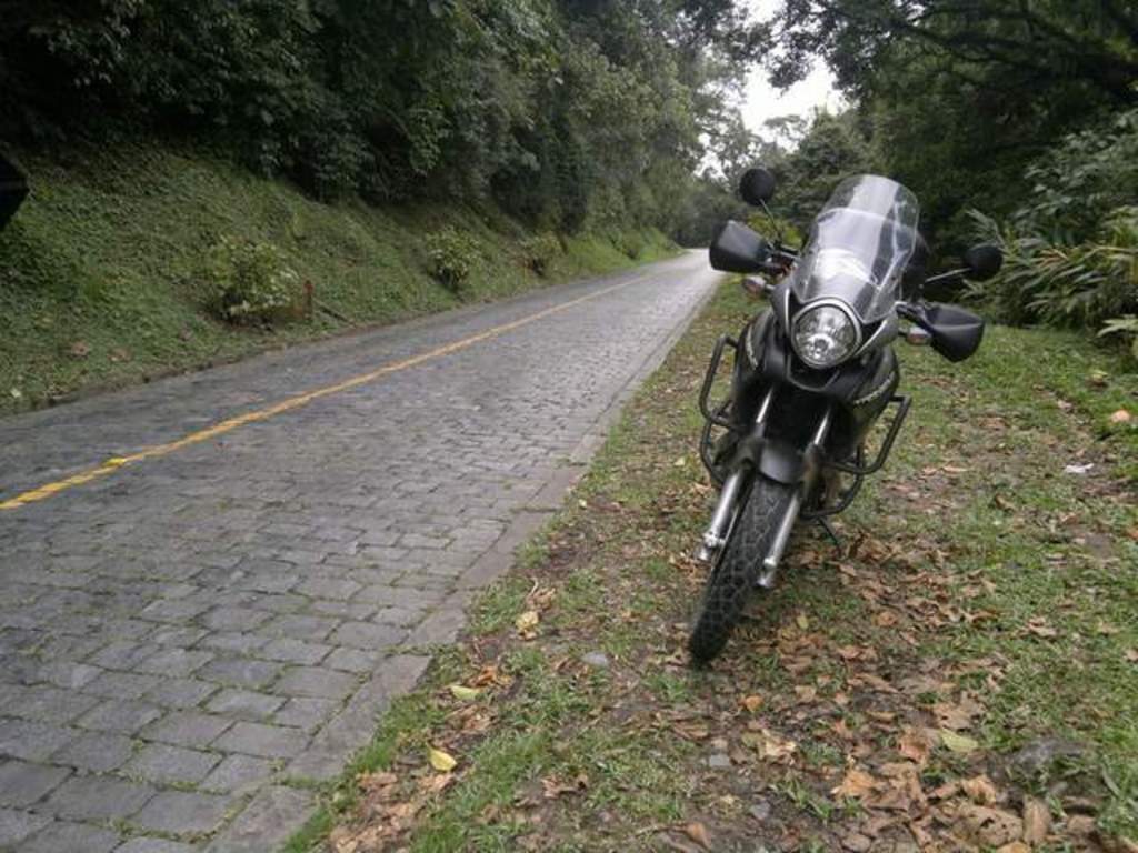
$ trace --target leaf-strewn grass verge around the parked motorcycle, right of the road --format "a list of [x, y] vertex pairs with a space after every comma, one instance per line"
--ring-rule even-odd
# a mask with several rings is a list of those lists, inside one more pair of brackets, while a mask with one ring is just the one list
[[694, 399], [753, 309], [727, 287], [695, 322], [290, 853], [369, 831], [420, 853], [996, 850], [1033, 798], [1036, 850], [1136, 837], [1135, 433], [1104, 413], [1138, 376], [1058, 332], [995, 328], [955, 366], [906, 349], [914, 411], [844, 546], [798, 533], [780, 588], [695, 671], [688, 555], [714, 496]]

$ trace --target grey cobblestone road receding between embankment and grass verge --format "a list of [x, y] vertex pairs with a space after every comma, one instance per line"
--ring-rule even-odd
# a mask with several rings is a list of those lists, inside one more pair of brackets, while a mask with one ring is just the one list
[[704, 257], [0, 421], [2, 500], [468, 341], [0, 512], [0, 850], [274, 850], [560, 503]]

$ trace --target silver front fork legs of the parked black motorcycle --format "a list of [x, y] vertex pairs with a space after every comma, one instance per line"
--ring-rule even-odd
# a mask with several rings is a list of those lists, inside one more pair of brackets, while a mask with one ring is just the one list
[[[774, 403], [774, 396], [775, 389], [772, 387], [767, 390], [762, 398], [762, 403], [759, 405], [759, 413], [754, 419], [756, 438], [762, 438], [762, 433], [766, 430], [767, 419], [770, 414], [770, 407]], [[810, 446], [807, 447], [805, 453], [810, 453], [811, 448], [822, 448], [826, 440], [826, 436], [830, 434], [832, 423], [833, 406], [828, 405], [826, 406], [826, 411], [823, 413], [822, 420], [818, 422], [818, 425], [814, 431], [814, 436], [810, 438]], [[743, 494], [744, 487], [747, 486], [747, 479], [750, 475], [750, 466], [743, 464], [737, 466], [731, 475], [727, 477], [726, 481], [724, 481], [723, 489], [719, 492], [719, 500], [711, 515], [711, 523], [703, 532], [703, 539], [696, 550], [696, 558], [711, 563], [716, 560], [719, 552], [726, 547], [727, 540], [731, 538], [732, 528], [734, 528], [735, 520], [739, 517], [739, 512], [742, 508], [739, 498], [740, 495]], [[786, 505], [786, 512], [783, 514], [783, 517], [780, 519], [778, 527], [775, 528], [775, 536], [770, 541], [770, 550], [762, 558], [762, 570], [757, 580], [758, 586], [767, 589], [774, 586], [775, 578], [778, 573], [778, 564], [786, 550], [787, 543], [790, 543], [790, 535], [794, 529], [794, 522], [798, 521], [799, 513], [802, 511], [802, 502], [806, 499], [806, 496], [813, 487], [813, 479], [808, 479], [799, 482], [794, 489], [794, 494], [791, 496], [790, 503]]]

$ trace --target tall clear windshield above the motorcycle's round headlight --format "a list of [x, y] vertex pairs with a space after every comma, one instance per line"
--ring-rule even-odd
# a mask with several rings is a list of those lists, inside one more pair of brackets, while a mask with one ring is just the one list
[[847, 303], [865, 323], [900, 298], [901, 273], [917, 242], [917, 199], [896, 181], [858, 175], [842, 181], [818, 214], [791, 271], [800, 303]]

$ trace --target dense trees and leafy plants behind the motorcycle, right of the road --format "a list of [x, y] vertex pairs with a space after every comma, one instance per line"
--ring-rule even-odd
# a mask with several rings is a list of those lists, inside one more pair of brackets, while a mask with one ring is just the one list
[[1138, 331], [1138, 7], [783, 0], [764, 35], [776, 83], [820, 58], [851, 103], [767, 146], [793, 221], [879, 171], [920, 197], [940, 264], [1003, 243], [1006, 272], [973, 291], [995, 318]]

